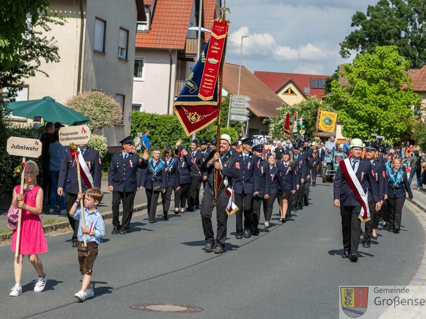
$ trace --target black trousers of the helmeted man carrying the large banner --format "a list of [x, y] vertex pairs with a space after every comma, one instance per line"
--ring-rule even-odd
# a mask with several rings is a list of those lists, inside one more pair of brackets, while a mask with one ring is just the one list
[[[213, 199], [214, 195], [207, 186], [206, 189], [204, 189], [203, 198], [201, 199], [201, 223], [203, 225], [204, 237], [208, 244], [215, 244], [215, 234], [213, 233], [213, 226], [211, 224], [211, 213], [214, 208]], [[217, 245], [221, 245], [222, 247], [225, 247], [226, 240], [226, 225], [228, 220], [226, 207], [228, 201], [228, 196], [222, 193], [218, 198], [218, 205], [216, 206], [216, 219], [218, 225], [216, 242]]]

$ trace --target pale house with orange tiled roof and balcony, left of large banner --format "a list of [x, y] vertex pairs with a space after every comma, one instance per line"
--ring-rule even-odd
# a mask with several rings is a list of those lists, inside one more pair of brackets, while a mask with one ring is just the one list
[[[173, 101], [195, 65], [198, 0], [144, 0], [146, 21], [138, 21], [132, 110], [173, 114]], [[211, 29], [220, 0], [204, 0], [201, 26]], [[209, 33], [201, 34], [201, 50]]]

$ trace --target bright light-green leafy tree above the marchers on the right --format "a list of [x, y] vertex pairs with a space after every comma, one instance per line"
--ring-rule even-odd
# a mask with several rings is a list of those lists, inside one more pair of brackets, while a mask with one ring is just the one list
[[344, 136], [368, 139], [378, 133], [397, 142], [409, 134], [411, 106], [421, 101], [409, 85], [409, 64], [396, 46], [378, 46], [356, 57], [353, 65], [343, 65], [339, 75], [348, 85], [333, 80], [327, 99], [338, 111]]

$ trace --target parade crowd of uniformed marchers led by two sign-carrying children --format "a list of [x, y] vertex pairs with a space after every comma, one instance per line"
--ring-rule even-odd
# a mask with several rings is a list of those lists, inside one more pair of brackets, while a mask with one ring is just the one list
[[[159, 198], [164, 220], [168, 220], [171, 205], [174, 206], [174, 214], [200, 209], [206, 241], [203, 250], [220, 254], [225, 248], [229, 215], [235, 213], [236, 239], [259, 235], [261, 207], [264, 217], [262, 226], [269, 228], [275, 201], [278, 202], [279, 221], [285, 223], [292, 211], [309, 205], [310, 187], [316, 185], [318, 175], [325, 173], [323, 166], [330, 163], [333, 154], [342, 151], [348, 156], [341, 158], [342, 162], [335, 171], [334, 205], [340, 208], [342, 219], [342, 257], [356, 262], [361, 221], [365, 222], [363, 247], [368, 248], [371, 239], [377, 239], [380, 219], [383, 219], [384, 227], [388, 226], [393, 233], [399, 233], [406, 192], [410, 199], [413, 198], [402, 156], [396, 152], [397, 148], [385, 144], [364, 143], [354, 138], [339, 149], [333, 136], [325, 143], [308, 139], [287, 139], [274, 143], [253, 137], [232, 142], [229, 135], [222, 134], [219, 150], [216, 150], [216, 140], [207, 142], [205, 139], [194, 139], [190, 146], [184, 146], [178, 140], [173, 147], [168, 145], [160, 151], [156, 147], [150, 148], [148, 134], [145, 131], [146, 138], [136, 146], [130, 136], [124, 138], [121, 141], [122, 151], [112, 157], [108, 173], [108, 189], [113, 194], [112, 234], [126, 234], [135, 194], [144, 190], [150, 223], [156, 221]], [[139, 155], [137, 148], [141, 146]], [[103, 197], [100, 190], [101, 159], [99, 153], [87, 145], [79, 145], [75, 151], [58, 148], [58, 152], [64, 155], [60, 165], [56, 165], [59, 169], [53, 185], [58, 186], [56, 194], [63, 198], [61, 210], [68, 215], [73, 229], [72, 246], [77, 247], [83, 275], [82, 288], [74, 297], [84, 301], [94, 295], [90, 284], [92, 267], [97, 246], [105, 234], [103, 219], [97, 210]], [[79, 191], [77, 184], [76, 157], [81, 166], [82, 191]], [[417, 160], [415, 165], [417, 167]], [[34, 291], [43, 291], [47, 280], [38, 257], [48, 248], [38, 217], [42, 212], [44, 196], [43, 188], [36, 183], [37, 164], [27, 162], [23, 173], [23, 195], [19, 194], [20, 186], [16, 186], [10, 209], [22, 209], [19, 255], [14, 261], [16, 283], [10, 296], [22, 293], [20, 277], [23, 255], [29, 256], [38, 273]], [[200, 202], [201, 185], [203, 195]], [[54, 194], [51, 194], [51, 205], [56, 199], [53, 197]], [[78, 208], [81, 200], [84, 200], [84, 212]], [[121, 222], [120, 203], [123, 205]], [[211, 221], [215, 207], [216, 238]], [[85, 216], [85, 224], [79, 225], [82, 215]], [[9, 221], [11, 228], [16, 228], [16, 219], [10, 218]], [[16, 230], [13, 232], [12, 251], [15, 251], [15, 244]]]

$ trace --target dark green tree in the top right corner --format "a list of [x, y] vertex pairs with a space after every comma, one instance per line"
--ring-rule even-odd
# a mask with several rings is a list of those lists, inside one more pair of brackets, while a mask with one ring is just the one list
[[412, 68], [426, 63], [426, 2], [424, 0], [380, 0], [367, 13], [352, 16], [352, 31], [340, 43], [340, 55], [351, 50], [373, 53], [376, 46], [395, 45]]

